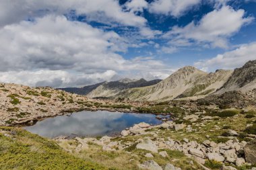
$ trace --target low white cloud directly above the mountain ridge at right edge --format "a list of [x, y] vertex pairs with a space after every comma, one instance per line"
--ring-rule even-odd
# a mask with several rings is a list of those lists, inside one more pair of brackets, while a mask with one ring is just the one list
[[236, 50], [218, 54], [208, 60], [195, 62], [195, 66], [204, 70], [214, 71], [215, 69], [234, 69], [245, 65], [248, 60], [256, 59], [256, 42], [242, 45]]

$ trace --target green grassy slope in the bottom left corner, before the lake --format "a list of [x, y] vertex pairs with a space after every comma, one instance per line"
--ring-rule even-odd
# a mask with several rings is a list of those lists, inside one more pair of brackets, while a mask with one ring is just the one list
[[63, 151], [54, 141], [20, 128], [0, 127], [0, 169], [105, 169]]

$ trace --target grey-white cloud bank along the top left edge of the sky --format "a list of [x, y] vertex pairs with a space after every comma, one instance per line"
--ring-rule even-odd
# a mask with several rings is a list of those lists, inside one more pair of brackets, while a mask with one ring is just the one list
[[[133, 7], [137, 3], [131, 3]], [[90, 20], [100, 22], [118, 22], [125, 26], [144, 26], [146, 19], [133, 11], [124, 11], [115, 0], [2, 0], [0, 1], [0, 26], [17, 23], [28, 17], [45, 13], [69, 13], [75, 10], [78, 15], [86, 15]]]

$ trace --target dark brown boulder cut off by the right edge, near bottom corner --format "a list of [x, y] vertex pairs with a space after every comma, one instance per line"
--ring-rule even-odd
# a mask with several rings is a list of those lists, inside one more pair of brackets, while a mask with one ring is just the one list
[[245, 145], [244, 150], [247, 163], [256, 164], [256, 139]]

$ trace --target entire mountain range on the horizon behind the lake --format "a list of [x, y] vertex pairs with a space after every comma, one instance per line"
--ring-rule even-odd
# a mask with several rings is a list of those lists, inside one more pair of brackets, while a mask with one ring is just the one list
[[164, 101], [170, 99], [198, 99], [226, 91], [249, 91], [256, 89], [256, 60], [232, 70], [218, 69], [207, 73], [187, 66], [172, 73], [164, 80], [145, 79], [111, 81], [82, 88], [63, 90], [87, 97], [123, 98], [134, 101]]

